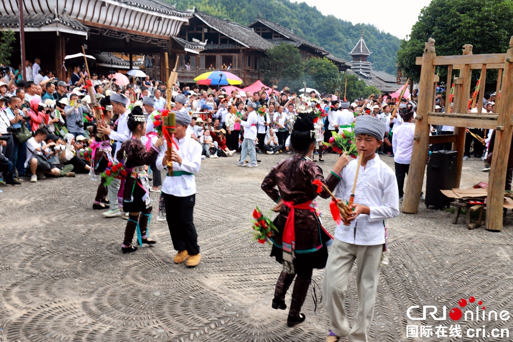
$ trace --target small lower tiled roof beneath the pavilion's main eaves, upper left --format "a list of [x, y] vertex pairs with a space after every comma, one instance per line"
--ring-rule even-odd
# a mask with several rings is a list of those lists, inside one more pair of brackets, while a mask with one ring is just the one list
[[[62, 25], [74, 31], [87, 32], [89, 29], [81, 22], [63, 14], [31, 14], [23, 17], [24, 27], [40, 28], [49, 25]], [[0, 27], [18, 28], [19, 17], [17, 15], [0, 15]]]

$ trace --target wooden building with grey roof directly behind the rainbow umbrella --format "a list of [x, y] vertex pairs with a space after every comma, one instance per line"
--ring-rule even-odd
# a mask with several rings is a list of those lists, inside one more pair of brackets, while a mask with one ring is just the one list
[[209, 68], [231, 66], [228, 71], [250, 85], [259, 79], [260, 59], [272, 47], [251, 28], [195, 10], [189, 25], [173, 39], [171, 52], [179, 56], [181, 83], [194, 83]]

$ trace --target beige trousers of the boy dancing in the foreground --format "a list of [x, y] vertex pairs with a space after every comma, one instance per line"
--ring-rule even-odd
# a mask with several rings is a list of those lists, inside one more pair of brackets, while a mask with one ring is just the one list
[[[349, 342], [367, 342], [367, 332], [372, 321], [383, 245], [361, 246], [335, 238], [326, 264], [323, 289], [326, 307], [331, 317], [331, 331]], [[347, 280], [354, 261], [358, 261], [357, 292], [358, 312], [354, 326], [349, 329], [344, 308]]]

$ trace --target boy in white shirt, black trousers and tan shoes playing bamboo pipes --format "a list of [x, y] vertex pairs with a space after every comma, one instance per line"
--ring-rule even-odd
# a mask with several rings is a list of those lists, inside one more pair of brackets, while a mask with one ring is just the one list
[[173, 261], [194, 267], [200, 263], [200, 247], [198, 233], [193, 222], [194, 204], [196, 203], [196, 181], [194, 173], [200, 171], [202, 147], [200, 143], [185, 132], [191, 122], [188, 113], [174, 112], [175, 133], [173, 137], [173, 153], [168, 160], [165, 142], [157, 157], [157, 169], [166, 166], [173, 169], [173, 174], [166, 175], [162, 185], [166, 219], [173, 247], [177, 251]]

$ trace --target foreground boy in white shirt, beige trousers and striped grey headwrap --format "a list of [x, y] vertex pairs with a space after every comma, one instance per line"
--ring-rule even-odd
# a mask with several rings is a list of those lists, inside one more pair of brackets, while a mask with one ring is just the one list
[[[372, 321], [381, 254], [385, 244], [387, 218], [399, 214], [399, 194], [394, 172], [376, 153], [383, 143], [386, 127], [380, 119], [363, 115], [356, 120], [354, 135], [358, 153], [363, 153], [358, 183], [354, 191], [354, 208], [348, 218], [349, 226], [340, 223], [329, 253], [324, 274], [326, 306], [331, 317], [331, 330], [327, 342], [340, 337], [349, 342], [366, 342]], [[352, 160], [341, 172], [335, 189], [338, 198], [351, 195], [358, 159]], [[358, 312], [352, 329], [349, 328], [344, 308], [348, 276], [354, 261], [358, 261]]]

